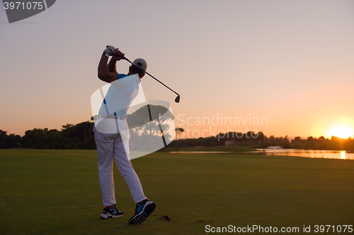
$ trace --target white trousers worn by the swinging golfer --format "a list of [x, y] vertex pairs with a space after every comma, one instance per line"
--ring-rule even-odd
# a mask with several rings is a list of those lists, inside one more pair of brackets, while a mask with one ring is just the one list
[[[100, 125], [98, 124], [98, 130], [100, 130]], [[112, 121], [110, 119], [107, 121]], [[120, 122], [117, 126], [125, 126], [126, 122], [122, 120], [114, 120]], [[115, 127], [116, 125], [114, 125]], [[102, 133], [97, 131], [96, 125], [93, 125], [93, 132], [95, 133], [95, 141], [97, 145], [97, 159], [98, 159], [98, 173], [100, 179], [100, 186], [102, 192], [102, 199], [104, 206], [115, 205], [115, 188], [113, 181], [113, 158], [115, 159], [115, 164], [117, 164], [118, 170], [122, 175], [125, 182], [132, 193], [132, 198], [135, 203], [139, 203], [142, 200], [147, 199], [144, 192], [142, 191], [142, 184], [140, 183], [139, 177], [132, 168], [132, 162], [130, 162], [129, 156], [129, 133]], [[116, 130], [118, 128], [115, 128]], [[127, 130], [129, 131], [129, 130]], [[119, 132], [119, 130], [118, 130]], [[127, 134], [127, 135], [126, 135]], [[125, 135], [125, 136], [124, 136]]]

